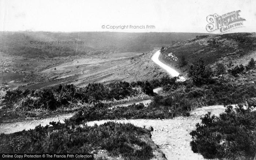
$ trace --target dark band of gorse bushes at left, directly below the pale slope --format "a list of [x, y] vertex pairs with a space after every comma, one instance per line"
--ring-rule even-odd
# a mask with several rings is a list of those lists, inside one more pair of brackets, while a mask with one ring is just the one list
[[[133, 85], [142, 88], [143, 92], [153, 95], [153, 87], [149, 82], [138, 82]], [[86, 87], [75, 87], [73, 84], [60, 85], [58, 88], [44, 89], [42, 91], [28, 90], [6, 91], [3, 96], [3, 104], [13, 106], [20, 103], [21, 109], [32, 110], [34, 108], [48, 108], [51, 110], [70, 102], [96, 103], [101, 100], [120, 100], [128, 96], [137, 95], [141, 91], [133, 88], [128, 82], [117, 82], [103, 85], [101, 83], [88, 84]]]

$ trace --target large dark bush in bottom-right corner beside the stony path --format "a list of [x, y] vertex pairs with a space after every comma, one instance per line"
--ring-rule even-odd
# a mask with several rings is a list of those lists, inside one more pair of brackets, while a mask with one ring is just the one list
[[253, 160], [256, 153], [256, 112], [241, 106], [215, 117], [206, 114], [196, 124], [192, 136], [192, 151], [207, 159]]

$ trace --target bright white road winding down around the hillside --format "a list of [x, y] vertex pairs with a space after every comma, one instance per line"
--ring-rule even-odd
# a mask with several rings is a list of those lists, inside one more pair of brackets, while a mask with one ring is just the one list
[[[163, 62], [159, 61], [160, 56], [160, 50], [158, 50], [152, 57], [151, 60], [154, 61], [157, 65], [159, 65], [161, 68], [165, 69], [172, 77], [178, 77], [180, 73], [178, 73], [175, 69], [167, 66]], [[185, 77], [181, 76], [178, 81], [185, 81]]]

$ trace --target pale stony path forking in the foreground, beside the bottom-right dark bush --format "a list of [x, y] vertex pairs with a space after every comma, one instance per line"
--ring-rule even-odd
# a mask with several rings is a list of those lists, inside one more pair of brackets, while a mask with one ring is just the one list
[[152, 140], [157, 144], [168, 160], [205, 160], [202, 155], [193, 153], [190, 147], [191, 136], [189, 133], [195, 129], [196, 123], [200, 123], [200, 117], [210, 111], [219, 115], [225, 111], [221, 105], [197, 108], [191, 111], [189, 117], [175, 117], [173, 119], [124, 119], [91, 121], [89, 126], [97, 123], [101, 125], [108, 121], [132, 123], [133, 125], [149, 128], [152, 126]]

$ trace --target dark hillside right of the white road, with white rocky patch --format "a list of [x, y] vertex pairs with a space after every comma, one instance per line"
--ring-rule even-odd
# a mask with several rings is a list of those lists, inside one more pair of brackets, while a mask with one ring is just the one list
[[255, 50], [255, 33], [204, 35], [176, 42], [176, 44], [165, 48], [159, 59], [186, 73], [190, 63], [199, 58], [212, 66], [218, 62], [224, 65], [231, 62], [233, 65], [245, 65], [251, 58], [256, 59]]

